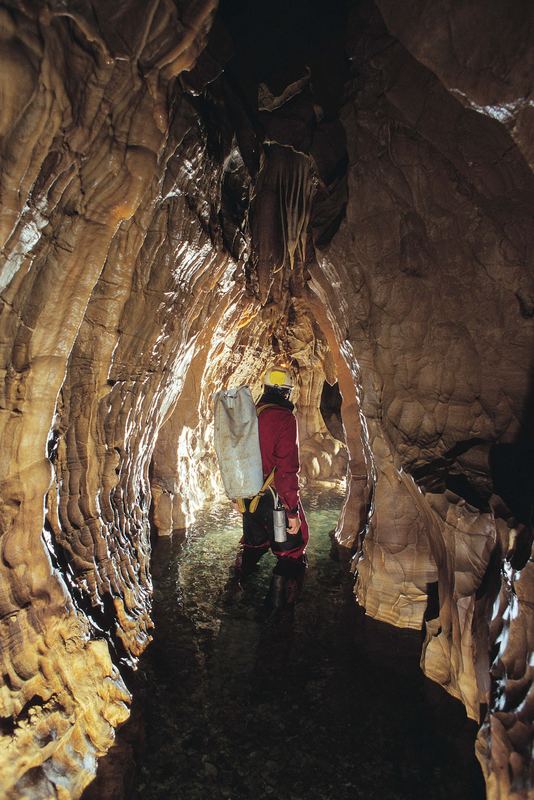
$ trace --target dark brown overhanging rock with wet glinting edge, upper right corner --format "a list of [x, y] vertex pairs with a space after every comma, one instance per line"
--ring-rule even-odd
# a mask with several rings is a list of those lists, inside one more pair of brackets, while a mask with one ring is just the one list
[[402, 11], [377, 0], [388, 30], [467, 108], [495, 119], [532, 167], [532, 8], [492, 0], [461, 5], [415, 0]]

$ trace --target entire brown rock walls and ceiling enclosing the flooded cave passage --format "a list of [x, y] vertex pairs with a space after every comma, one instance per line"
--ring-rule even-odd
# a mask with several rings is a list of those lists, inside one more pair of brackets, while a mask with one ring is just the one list
[[0, 9], [7, 797], [92, 780], [150, 641], [151, 528], [220, 491], [211, 394], [274, 357], [307, 479], [348, 452], [359, 602], [424, 620], [488, 796], [534, 785], [533, 12], [324, 5]]

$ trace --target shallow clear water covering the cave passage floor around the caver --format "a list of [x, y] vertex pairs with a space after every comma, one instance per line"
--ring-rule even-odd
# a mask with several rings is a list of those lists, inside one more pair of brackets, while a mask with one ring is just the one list
[[420, 634], [366, 618], [329, 557], [343, 497], [305, 497], [309, 569], [293, 619], [256, 613], [268, 554], [231, 607], [240, 538], [228, 507], [155, 549], [155, 640], [137, 702], [144, 746], [129, 796], [180, 800], [478, 800], [475, 726], [418, 668]]

